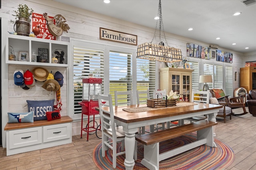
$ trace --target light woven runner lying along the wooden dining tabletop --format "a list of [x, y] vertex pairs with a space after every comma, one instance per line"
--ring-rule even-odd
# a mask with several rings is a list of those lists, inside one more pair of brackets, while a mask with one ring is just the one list
[[174, 107], [182, 107], [182, 106], [192, 106], [192, 105], [197, 105], [196, 103], [190, 103], [190, 102], [180, 102], [177, 103], [176, 106], [171, 106], [171, 107], [160, 107], [160, 108], [152, 108], [152, 107], [134, 107], [134, 108], [124, 108], [124, 111], [128, 112], [141, 112], [141, 111], [150, 111], [150, 110], [158, 110], [158, 109], [166, 109], [166, 108], [174, 108]]

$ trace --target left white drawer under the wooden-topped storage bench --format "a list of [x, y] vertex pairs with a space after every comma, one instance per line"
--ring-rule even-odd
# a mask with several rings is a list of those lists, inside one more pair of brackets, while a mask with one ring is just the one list
[[42, 143], [42, 127], [9, 131], [9, 149]]

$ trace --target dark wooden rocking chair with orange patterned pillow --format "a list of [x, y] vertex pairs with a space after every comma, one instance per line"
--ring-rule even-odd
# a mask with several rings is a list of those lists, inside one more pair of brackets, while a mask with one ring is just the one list
[[[248, 113], [246, 111], [245, 105], [244, 105], [244, 96], [237, 96], [237, 97], [229, 99], [228, 96], [225, 95], [225, 93], [222, 89], [217, 89], [217, 88], [211, 89], [210, 93], [212, 94], [212, 97], [217, 98], [217, 100], [219, 102], [224, 102], [226, 104], [226, 106], [230, 107], [232, 115], [240, 116], [240, 115], [245, 115], [246, 113]], [[240, 107], [243, 108], [244, 113], [235, 114], [234, 112], [232, 112], [232, 109], [236, 109], [236, 108], [240, 108]]]

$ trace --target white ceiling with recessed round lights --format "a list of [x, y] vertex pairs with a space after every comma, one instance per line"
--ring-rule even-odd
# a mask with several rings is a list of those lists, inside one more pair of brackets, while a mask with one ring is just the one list
[[[158, 14], [158, 0], [112, 0], [110, 4], [103, 0], [55, 1], [156, 27], [154, 17]], [[256, 4], [245, 6], [241, 0], [161, 0], [161, 3], [165, 32], [242, 53], [256, 52]], [[242, 14], [232, 16], [235, 12]], [[194, 30], [188, 31], [190, 27]]]

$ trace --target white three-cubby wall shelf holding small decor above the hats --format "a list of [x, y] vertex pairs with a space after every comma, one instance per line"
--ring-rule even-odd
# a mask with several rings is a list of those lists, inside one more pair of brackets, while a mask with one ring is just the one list
[[68, 67], [68, 42], [8, 34], [6, 63]]

